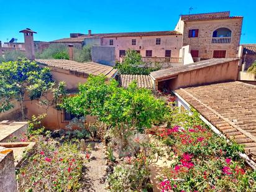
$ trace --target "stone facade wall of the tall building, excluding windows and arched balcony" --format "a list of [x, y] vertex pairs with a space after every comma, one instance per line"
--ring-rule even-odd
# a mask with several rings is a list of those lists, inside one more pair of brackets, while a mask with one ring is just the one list
[[[231, 43], [212, 43], [213, 32], [221, 27], [230, 29]], [[185, 22], [183, 45], [190, 45], [191, 50], [199, 50], [200, 58], [213, 58], [213, 50], [226, 50], [226, 57], [234, 58], [239, 51], [242, 19], [220, 19], [210, 21]], [[199, 29], [198, 37], [189, 38], [190, 29]]]

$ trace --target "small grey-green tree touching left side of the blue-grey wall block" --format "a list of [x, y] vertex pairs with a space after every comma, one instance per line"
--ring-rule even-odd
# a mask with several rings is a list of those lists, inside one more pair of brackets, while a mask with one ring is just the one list
[[74, 60], [76, 62], [91, 62], [91, 46], [86, 45], [82, 49], [74, 48]]

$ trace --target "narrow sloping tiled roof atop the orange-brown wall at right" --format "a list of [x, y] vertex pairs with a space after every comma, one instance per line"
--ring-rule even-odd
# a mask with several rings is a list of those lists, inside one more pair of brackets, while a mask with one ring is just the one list
[[221, 63], [232, 62], [234, 60], [238, 60], [238, 58], [211, 58], [209, 60], [191, 63], [188, 65], [182, 65], [182, 66], [177, 66], [173, 68], [167, 68], [164, 70], [153, 71], [150, 73], [150, 75], [155, 80], [168, 79], [169, 77], [178, 75], [179, 73], [198, 70], [200, 68], [205, 68], [208, 66], [219, 65]]

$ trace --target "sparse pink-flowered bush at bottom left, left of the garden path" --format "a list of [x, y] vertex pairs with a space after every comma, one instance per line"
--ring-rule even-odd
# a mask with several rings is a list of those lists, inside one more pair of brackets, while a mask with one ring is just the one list
[[22, 165], [17, 180], [21, 191], [77, 191], [83, 159], [77, 144], [43, 140]]

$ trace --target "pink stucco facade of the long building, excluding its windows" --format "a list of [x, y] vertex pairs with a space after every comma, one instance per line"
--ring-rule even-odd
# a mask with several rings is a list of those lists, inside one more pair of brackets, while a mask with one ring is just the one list
[[[161, 39], [161, 45], [156, 45], [155, 40]], [[104, 37], [103, 45], [109, 45], [113, 40], [116, 47], [116, 59], [119, 60], [119, 50], [140, 50], [142, 57], [146, 56], [146, 50], [152, 50], [152, 57], [165, 57], [165, 50], [171, 50], [171, 57], [179, 57], [182, 35], [163, 35], [150, 37]], [[132, 39], [136, 39], [136, 45], [132, 45]], [[140, 49], [139, 46], [143, 48]]]

